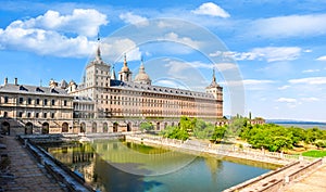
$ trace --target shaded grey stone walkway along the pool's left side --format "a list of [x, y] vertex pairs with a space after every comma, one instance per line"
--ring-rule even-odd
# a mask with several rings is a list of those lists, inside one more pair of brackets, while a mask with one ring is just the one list
[[0, 141], [7, 145], [7, 149], [1, 149], [0, 153], [8, 154], [10, 158], [9, 172], [14, 175], [14, 178], [0, 177], [2, 190], [20, 192], [65, 191], [14, 137], [3, 136]]

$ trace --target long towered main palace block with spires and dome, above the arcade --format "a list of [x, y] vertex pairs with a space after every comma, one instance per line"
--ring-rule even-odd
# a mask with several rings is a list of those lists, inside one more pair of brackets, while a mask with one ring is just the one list
[[[102, 61], [98, 49], [96, 59], [86, 67], [86, 76], [70, 94], [95, 101], [95, 118], [179, 118], [217, 120], [223, 117], [223, 88], [215, 74], [206, 92], [152, 86], [143, 64], [135, 80], [124, 56], [120, 79], [111, 65]], [[110, 75], [109, 75], [110, 74]], [[82, 112], [80, 112], [82, 113]]]

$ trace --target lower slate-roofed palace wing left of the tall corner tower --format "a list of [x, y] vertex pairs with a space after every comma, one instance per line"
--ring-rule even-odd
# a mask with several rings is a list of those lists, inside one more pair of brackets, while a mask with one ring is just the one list
[[61, 133], [73, 126], [73, 99], [63, 88], [14, 84], [0, 87], [0, 125], [7, 133]]

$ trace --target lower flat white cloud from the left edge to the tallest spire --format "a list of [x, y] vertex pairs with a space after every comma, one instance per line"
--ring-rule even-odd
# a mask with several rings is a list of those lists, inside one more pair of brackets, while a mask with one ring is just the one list
[[53, 30], [24, 29], [7, 27], [0, 33], [0, 44], [3, 49], [35, 52], [41, 55], [63, 57], [88, 56], [97, 42], [88, 41], [85, 36], [67, 38]]

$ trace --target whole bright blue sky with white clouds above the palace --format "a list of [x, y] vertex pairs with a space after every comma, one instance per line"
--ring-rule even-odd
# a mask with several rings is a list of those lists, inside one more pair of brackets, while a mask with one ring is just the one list
[[226, 115], [326, 121], [324, 0], [4, 0], [0, 79], [79, 82], [98, 34], [116, 72], [142, 56], [156, 85], [203, 91], [215, 67]]

